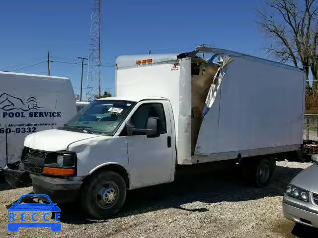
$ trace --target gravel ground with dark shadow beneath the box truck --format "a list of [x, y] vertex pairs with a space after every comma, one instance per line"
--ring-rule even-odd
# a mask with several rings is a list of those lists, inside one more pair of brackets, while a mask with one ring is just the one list
[[0, 237], [294, 238], [313, 232], [317, 236], [317, 230], [295, 226], [282, 213], [287, 184], [310, 165], [277, 162], [275, 179], [265, 188], [247, 184], [229, 169], [191, 166], [173, 183], [130, 191], [123, 209], [109, 220], [89, 220], [76, 205], [60, 205], [60, 233], [49, 228], [9, 233], [6, 206], [32, 192], [32, 187], [8, 189], [1, 184]]

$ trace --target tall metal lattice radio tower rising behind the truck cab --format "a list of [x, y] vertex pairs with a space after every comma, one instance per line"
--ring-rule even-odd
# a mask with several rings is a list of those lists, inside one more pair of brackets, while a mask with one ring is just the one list
[[100, 1], [92, 0], [86, 100], [100, 96]]

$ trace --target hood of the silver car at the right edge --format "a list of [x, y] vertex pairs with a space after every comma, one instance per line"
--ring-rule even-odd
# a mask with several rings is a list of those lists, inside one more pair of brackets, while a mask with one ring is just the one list
[[308, 191], [318, 193], [317, 181], [318, 165], [315, 164], [300, 172], [291, 183]]

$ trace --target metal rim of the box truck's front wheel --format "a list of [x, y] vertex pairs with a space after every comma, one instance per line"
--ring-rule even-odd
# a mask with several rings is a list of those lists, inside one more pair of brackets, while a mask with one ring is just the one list
[[103, 182], [96, 193], [96, 202], [99, 207], [106, 209], [114, 205], [118, 197], [118, 186], [114, 182]]

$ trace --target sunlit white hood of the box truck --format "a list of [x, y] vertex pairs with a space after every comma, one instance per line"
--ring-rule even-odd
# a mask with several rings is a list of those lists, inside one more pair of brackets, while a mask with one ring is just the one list
[[45, 151], [67, 150], [74, 142], [99, 136], [66, 130], [43, 130], [25, 137], [24, 146]]

